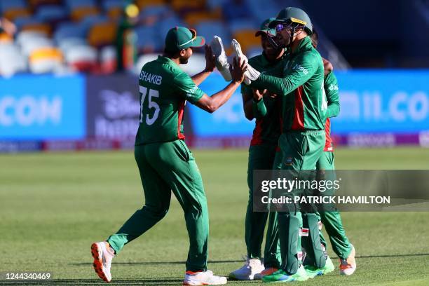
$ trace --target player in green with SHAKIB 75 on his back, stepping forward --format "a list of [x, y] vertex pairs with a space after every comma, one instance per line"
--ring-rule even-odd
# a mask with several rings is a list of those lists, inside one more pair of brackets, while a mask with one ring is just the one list
[[205, 46], [206, 67], [192, 78], [179, 67], [186, 64], [193, 47], [205, 39], [186, 27], [170, 29], [165, 50], [157, 60], [142, 67], [139, 75], [141, 114], [135, 139], [135, 160], [144, 189], [145, 204], [107, 241], [91, 245], [95, 272], [111, 280], [111, 259], [123, 246], [151, 229], [170, 207], [175, 194], [186, 221], [189, 254], [183, 285], [223, 285], [226, 278], [207, 270], [209, 221], [203, 180], [191, 151], [184, 142], [183, 114], [186, 101], [210, 113], [221, 107], [240, 86], [247, 64], [234, 59], [232, 81], [207, 96], [198, 85], [214, 70], [215, 57]]

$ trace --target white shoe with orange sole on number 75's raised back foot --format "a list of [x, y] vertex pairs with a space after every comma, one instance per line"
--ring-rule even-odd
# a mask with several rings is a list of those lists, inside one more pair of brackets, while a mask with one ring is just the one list
[[91, 245], [91, 254], [93, 254], [94, 257], [93, 266], [98, 277], [106, 282], [110, 282], [110, 265], [111, 259], [115, 257], [114, 250], [107, 242], [102, 241]]

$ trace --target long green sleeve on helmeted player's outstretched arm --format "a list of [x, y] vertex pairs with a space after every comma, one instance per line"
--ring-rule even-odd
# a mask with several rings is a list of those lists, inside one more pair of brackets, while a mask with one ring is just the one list
[[250, 86], [259, 89], [266, 88], [271, 93], [278, 95], [287, 95], [292, 90], [302, 86], [315, 74], [318, 69], [318, 60], [320, 59], [313, 53], [303, 53], [297, 58], [292, 71], [287, 71], [287, 74], [284, 74], [282, 78], [261, 74], [256, 81], [252, 81]]

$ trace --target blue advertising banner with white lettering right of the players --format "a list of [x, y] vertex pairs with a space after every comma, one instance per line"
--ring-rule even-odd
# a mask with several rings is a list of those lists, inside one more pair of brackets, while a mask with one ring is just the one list
[[429, 130], [429, 71], [336, 72], [341, 111], [332, 132]]

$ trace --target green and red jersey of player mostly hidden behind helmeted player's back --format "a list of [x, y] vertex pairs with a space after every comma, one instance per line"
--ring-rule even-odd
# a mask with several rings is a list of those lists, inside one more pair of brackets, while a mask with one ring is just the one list
[[339, 104], [339, 91], [338, 91], [338, 81], [336, 81], [336, 76], [331, 71], [325, 76], [325, 94], [327, 98], [327, 114], [326, 114], [326, 123], [325, 123], [325, 149], [323, 151], [334, 151], [334, 146], [332, 145], [331, 138], [331, 121], [330, 117], [335, 117], [339, 114], [340, 104]]

